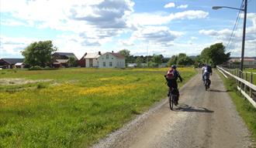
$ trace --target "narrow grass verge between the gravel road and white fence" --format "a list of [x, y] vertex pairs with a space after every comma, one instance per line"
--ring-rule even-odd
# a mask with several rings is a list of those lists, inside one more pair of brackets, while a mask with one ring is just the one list
[[256, 142], [256, 109], [251, 105], [251, 103], [249, 103], [249, 101], [247, 101], [247, 99], [244, 99], [244, 97], [237, 92], [237, 84], [235, 79], [225, 79], [220, 72], [218, 73], [223, 79], [224, 86], [231, 96], [237, 108], [237, 112], [244, 119], [244, 122], [247, 124], [248, 129], [252, 133], [254, 142]]

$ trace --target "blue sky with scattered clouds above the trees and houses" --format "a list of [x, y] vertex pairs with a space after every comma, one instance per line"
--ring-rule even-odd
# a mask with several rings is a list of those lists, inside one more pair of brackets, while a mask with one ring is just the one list
[[[223, 42], [240, 56], [242, 0], [0, 0], [0, 58], [22, 58], [32, 42], [52, 40], [58, 52], [132, 55], [185, 53]], [[228, 42], [231, 41], [229, 44]], [[248, 0], [245, 56], [256, 56], [256, 0]]]

